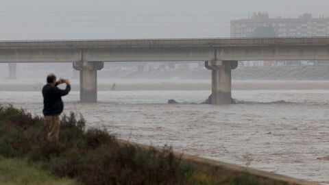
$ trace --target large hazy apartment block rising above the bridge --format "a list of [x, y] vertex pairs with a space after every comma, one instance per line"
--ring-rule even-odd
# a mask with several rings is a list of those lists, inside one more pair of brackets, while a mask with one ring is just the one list
[[231, 38], [254, 37], [259, 28], [273, 29], [279, 37], [329, 36], [329, 17], [302, 14], [298, 18], [269, 18], [269, 14], [254, 13], [250, 18], [231, 21]]

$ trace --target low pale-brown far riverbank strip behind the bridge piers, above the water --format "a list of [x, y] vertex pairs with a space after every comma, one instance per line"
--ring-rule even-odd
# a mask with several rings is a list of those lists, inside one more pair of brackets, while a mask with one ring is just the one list
[[[0, 83], [0, 91], [40, 91], [43, 83], [9, 81]], [[115, 84], [115, 85], [114, 85]], [[210, 80], [145, 80], [99, 79], [99, 91], [108, 90], [211, 90]], [[328, 90], [329, 81], [297, 80], [233, 80], [232, 90]], [[80, 90], [77, 80], [72, 80], [72, 90]]]

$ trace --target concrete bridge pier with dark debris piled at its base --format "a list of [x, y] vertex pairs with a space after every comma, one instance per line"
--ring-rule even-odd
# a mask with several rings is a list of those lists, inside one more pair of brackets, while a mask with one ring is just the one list
[[206, 68], [212, 71], [212, 104], [231, 104], [231, 70], [236, 69], [237, 61], [206, 61]]

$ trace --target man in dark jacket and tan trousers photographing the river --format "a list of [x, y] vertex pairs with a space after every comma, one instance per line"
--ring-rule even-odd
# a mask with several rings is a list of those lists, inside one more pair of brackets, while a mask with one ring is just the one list
[[[58, 88], [59, 84], [66, 84], [65, 90]], [[47, 84], [42, 88], [43, 114], [45, 115], [47, 127], [47, 140], [58, 141], [60, 133], [60, 113], [63, 112], [64, 104], [62, 96], [69, 94], [71, 85], [69, 79], [59, 79], [56, 82], [56, 75], [53, 73], [47, 76]]]

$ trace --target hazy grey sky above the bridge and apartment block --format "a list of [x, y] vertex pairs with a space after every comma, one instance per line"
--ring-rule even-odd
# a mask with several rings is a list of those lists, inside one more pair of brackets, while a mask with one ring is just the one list
[[328, 0], [0, 0], [0, 40], [229, 37], [253, 12], [329, 16]]

